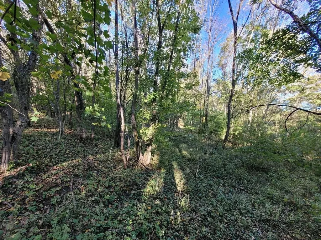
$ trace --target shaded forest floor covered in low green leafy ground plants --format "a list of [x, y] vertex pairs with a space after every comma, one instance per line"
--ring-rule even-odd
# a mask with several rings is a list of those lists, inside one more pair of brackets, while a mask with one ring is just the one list
[[321, 239], [321, 178], [259, 148], [174, 132], [149, 170], [125, 170], [99, 130], [57, 142], [41, 121], [0, 175], [0, 239]]

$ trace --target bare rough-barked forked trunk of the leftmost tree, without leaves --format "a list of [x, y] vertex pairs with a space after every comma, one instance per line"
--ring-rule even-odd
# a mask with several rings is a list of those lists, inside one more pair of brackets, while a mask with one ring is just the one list
[[[37, 45], [40, 41], [40, 35], [43, 27], [43, 21], [40, 21], [40, 17], [37, 16], [36, 20], [39, 23], [40, 28], [35, 30], [32, 33], [32, 41], [35, 44], [34, 49], [37, 48]], [[11, 37], [15, 38], [13, 34]], [[1, 36], [1, 41], [7, 46], [7, 41]], [[14, 60], [14, 69], [13, 69], [13, 83], [17, 90], [18, 101], [19, 101], [19, 118], [16, 124], [14, 124], [13, 119], [13, 109], [10, 105], [1, 106], [0, 112], [3, 121], [3, 141], [4, 149], [1, 161], [1, 171], [6, 171], [9, 167], [9, 160], [13, 159], [14, 162], [18, 161], [18, 150], [19, 144], [22, 137], [22, 132], [27, 126], [28, 111], [29, 111], [29, 96], [30, 96], [30, 79], [31, 72], [34, 70], [38, 60], [38, 54], [35, 50], [31, 50], [28, 61], [26, 63], [22, 62], [22, 59], [19, 56], [19, 52], [13, 49], [9, 49], [13, 55]], [[0, 54], [0, 65], [2, 66], [2, 59]], [[1, 96], [4, 96], [4, 93], [11, 94], [11, 85], [9, 80], [1, 81]]]

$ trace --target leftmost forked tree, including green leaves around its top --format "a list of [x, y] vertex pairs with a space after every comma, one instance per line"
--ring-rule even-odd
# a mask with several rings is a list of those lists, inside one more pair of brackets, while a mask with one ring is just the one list
[[[31, 72], [36, 67], [38, 61], [38, 46], [43, 29], [44, 21], [39, 13], [39, 3], [33, 2], [26, 6], [27, 10], [32, 12], [30, 21], [32, 25], [26, 26], [19, 21], [16, 22], [17, 12], [23, 11], [17, 1], [8, 4], [8, 11], [2, 18], [5, 20], [5, 26], [8, 30], [7, 38], [2, 33], [0, 39], [2, 46], [6, 47], [12, 54], [14, 60], [12, 80], [17, 90], [19, 110], [13, 109], [10, 103], [1, 102], [0, 112], [3, 121], [3, 154], [1, 162], [1, 171], [6, 171], [9, 167], [9, 160], [18, 160], [18, 149], [22, 137], [22, 132], [27, 126], [29, 119], [29, 95]], [[14, 5], [14, 9], [11, 6]], [[2, 31], [3, 32], [3, 31]], [[24, 41], [23, 35], [29, 36], [29, 41]], [[23, 49], [28, 49], [29, 54], [25, 58]], [[25, 60], [26, 59], [26, 60]], [[1, 65], [2, 59], [0, 59]], [[12, 95], [10, 80], [1, 81], [1, 97], [8, 98]], [[13, 111], [19, 114], [18, 121], [15, 123]]]

